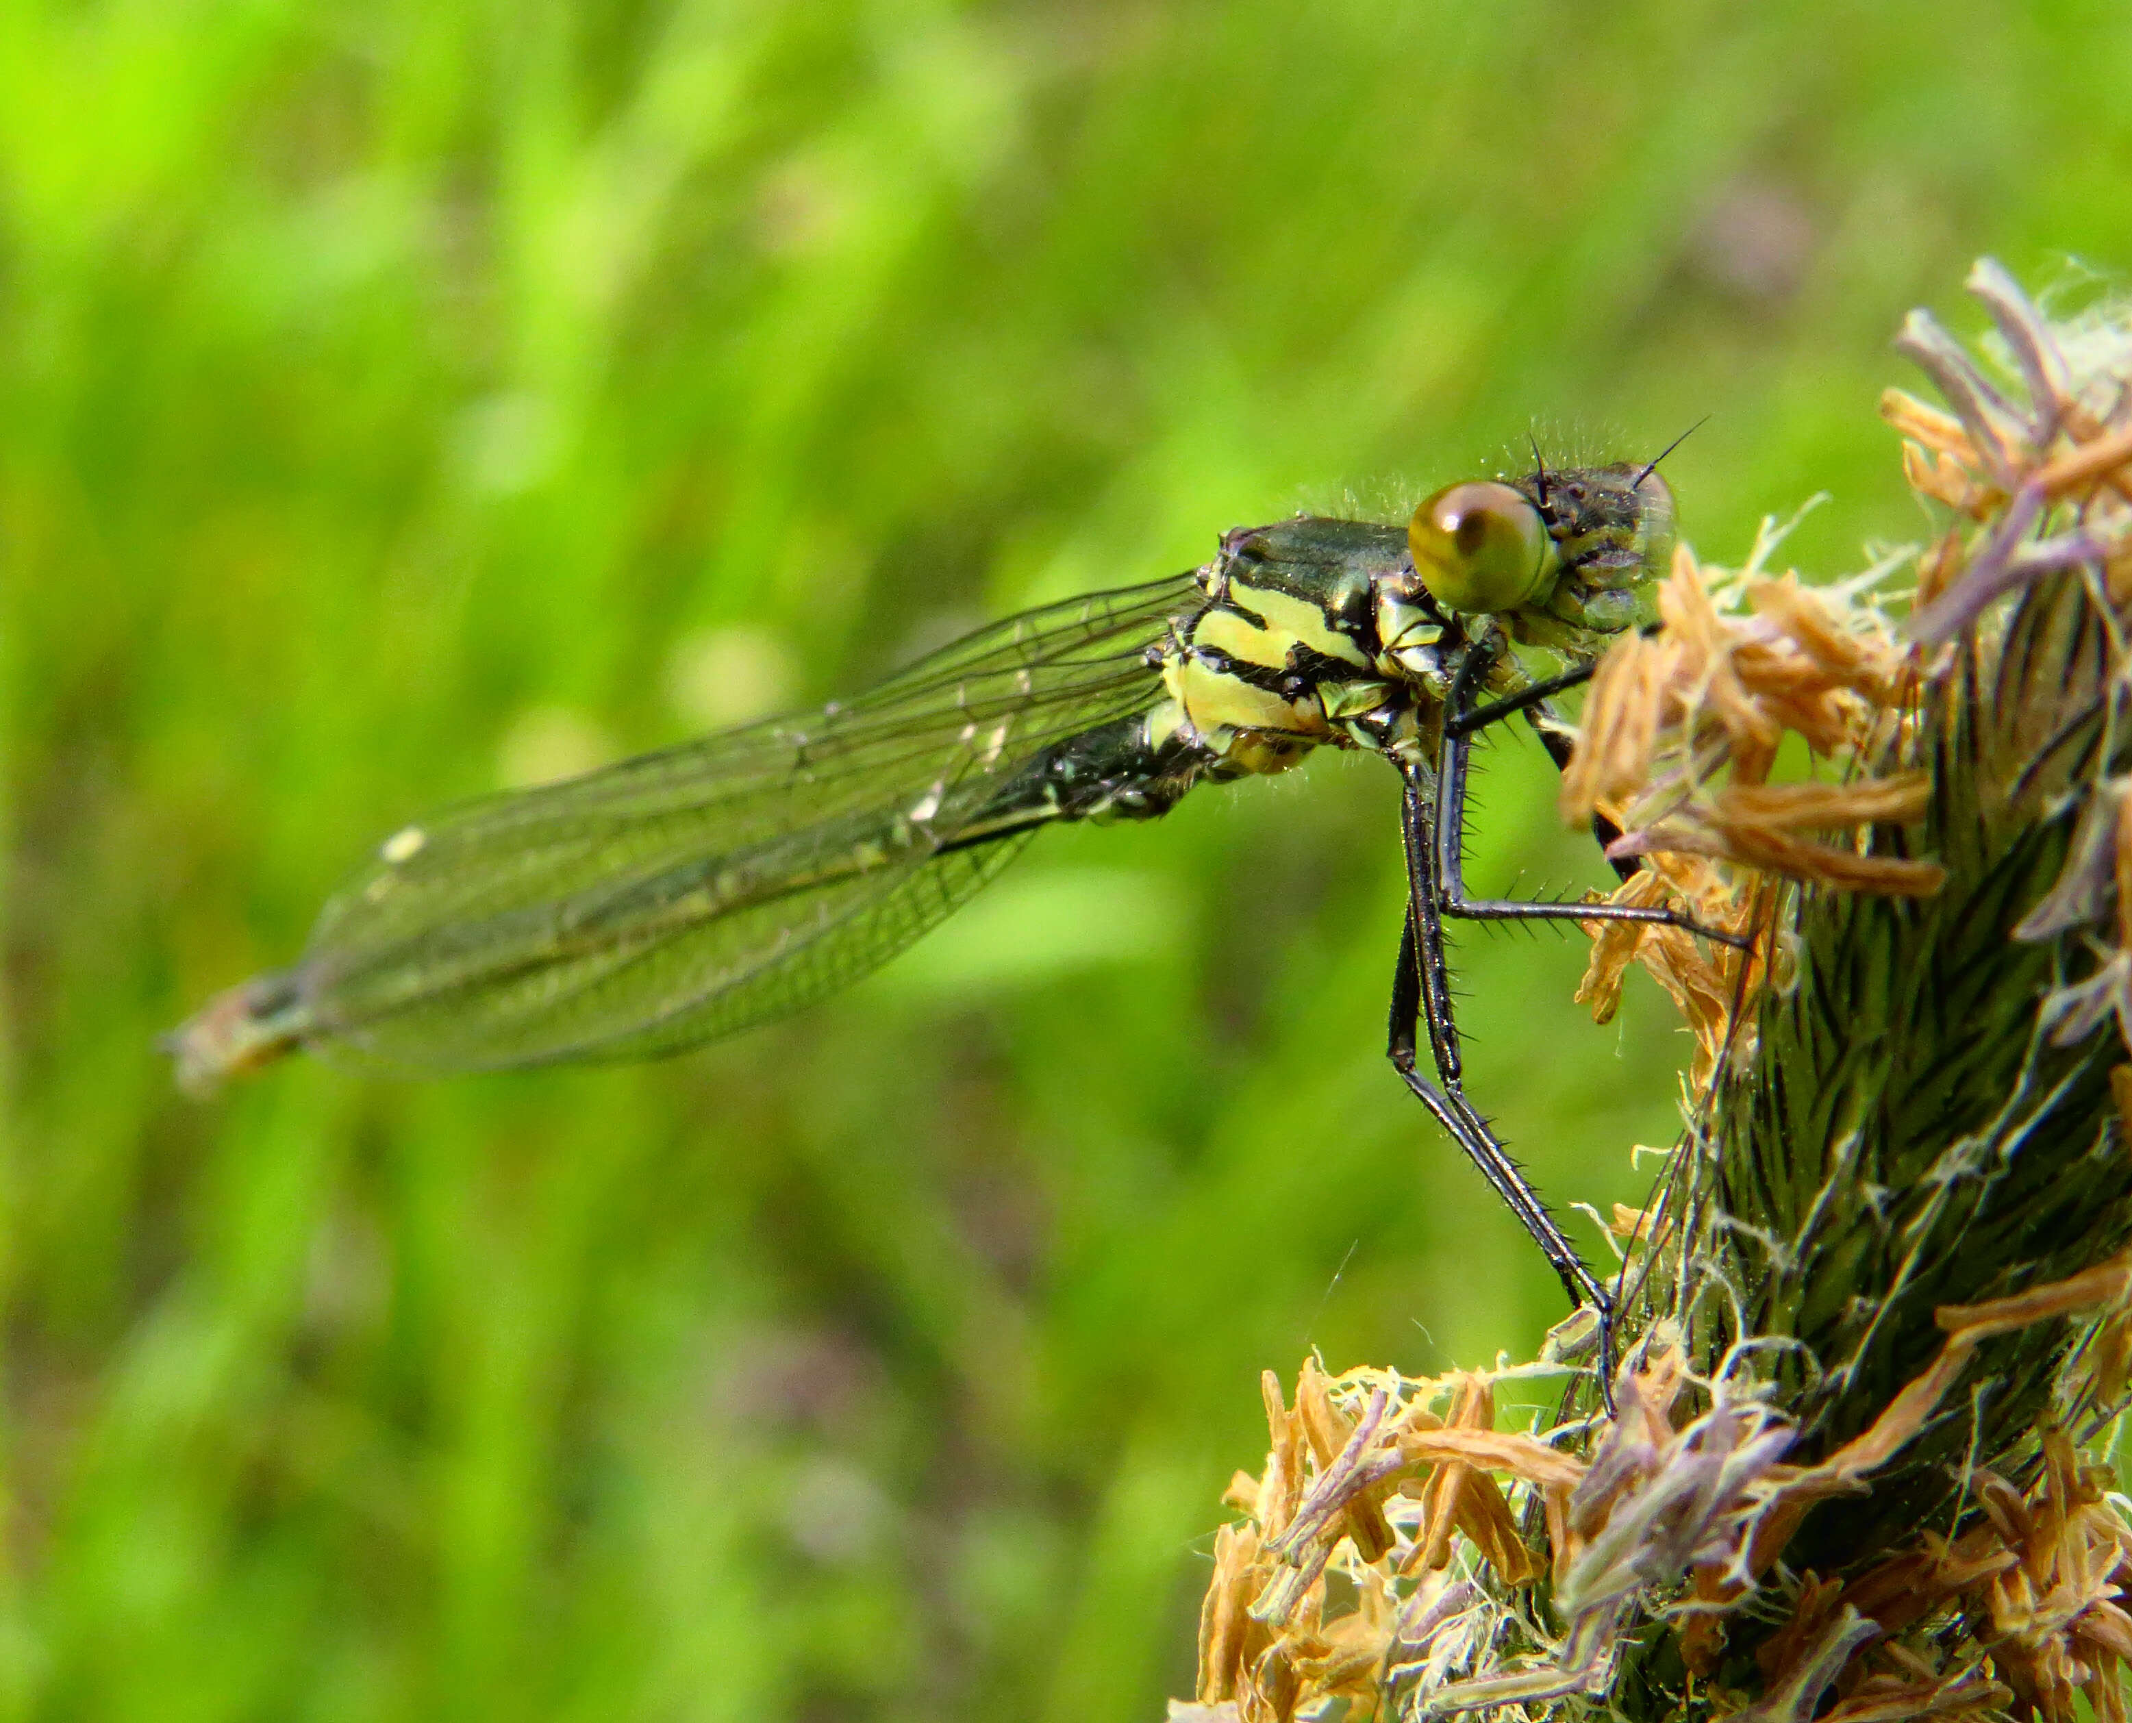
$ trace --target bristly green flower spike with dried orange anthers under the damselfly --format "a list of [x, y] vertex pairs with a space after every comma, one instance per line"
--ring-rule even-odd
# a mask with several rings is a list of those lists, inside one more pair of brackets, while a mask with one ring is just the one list
[[[1949, 531], [1834, 589], [1763, 571], [1776, 527], [1738, 569], [1682, 548], [1661, 631], [1618, 642], [1586, 697], [1565, 810], [1603, 812], [1616, 855], [1648, 861], [1612, 902], [1761, 930], [1740, 953], [1588, 923], [1580, 998], [1605, 1017], [1642, 962], [1695, 1032], [1691, 1088], [1714, 1094], [1654, 1203], [1616, 1213], [1648, 1292], [1616, 1412], [1497, 1431], [1501, 1382], [1554, 1363], [1409, 1382], [1311, 1360], [1294, 1410], [1269, 1378], [1264, 1478], [1226, 1497], [1256, 1523], [1217, 1540], [1202, 1614], [1200, 1702], [1224, 1719], [1343, 1700], [1379, 1719], [2072, 1723], [2085, 1706], [2126, 1723], [2132, 1514], [2068, 1420], [2094, 1431], [2132, 1380], [2132, 1060], [2087, 1043], [2115, 1019], [2132, 1047], [2132, 755], [2115, 729], [2096, 740], [2132, 672], [2132, 618], [2109, 608], [2132, 599], [2132, 313], [2047, 322], [1989, 262], [1972, 288], [2019, 388], [1917, 316], [1902, 345], [1949, 409], [1883, 399]], [[1904, 565], [1917, 608], [1897, 631], [1878, 593]], [[2019, 612], [2002, 642], [1996, 599], [2045, 580], [2074, 601]], [[1964, 851], [1959, 832], [1985, 836]], [[2030, 868], [2013, 885], [2006, 857]], [[1942, 861], [1959, 866], [1940, 902], [1876, 902], [1929, 898]], [[1799, 908], [1774, 938], [1787, 898], [1819, 919]], [[2010, 975], [2008, 953], [2028, 968], [2002, 1011], [1978, 977]], [[1853, 975], [1910, 1015], [1868, 1019]], [[1891, 1130], [1868, 1117], [1891, 1079], [1851, 1068], [1859, 1045], [1936, 1017], [2010, 1053], [1940, 1049], [1919, 1094], [1951, 1141], [1868, 1143]], [[1978, 1070], [1993, 1083], [1957, 1115]], [[2064, 1096], [2079, 1105], [2049, 1113]], [[1787, 1137], [1827, 1124], [1814, 1109], [1838, 1115], [1829, 1143]], [[2055, 1173], [2038, 1196], [2006, 1166]], [[2057, 1207], [2017, 1224], [2017, 1201]], [[1996, 1262], [1993, 1228], [2025, 1254]], [[1921, 1290], [1947, 1286], [1976, 1290]], [[2006, 1407], [2017, 1427], [1993, 1427]], [[1951, 1488], [1942, 1525], [1906, 1508]], [[1522, 1591], [1537, 1574], [1548, 1589]]]

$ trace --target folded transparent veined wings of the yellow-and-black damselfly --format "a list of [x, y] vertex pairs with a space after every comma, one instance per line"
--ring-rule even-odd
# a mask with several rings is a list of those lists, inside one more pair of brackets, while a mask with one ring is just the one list
[[388, 838], [290, 977], [320, 1051], [631, 1058], [902, 951], [1045, 821], [1045, 751], [1160, 699], [1190, 576], [1032, 610], [849, 704], [471, 802]]

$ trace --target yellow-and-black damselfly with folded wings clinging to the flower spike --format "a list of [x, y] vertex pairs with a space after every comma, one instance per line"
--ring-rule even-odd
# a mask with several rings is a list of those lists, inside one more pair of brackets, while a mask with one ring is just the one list
[[[1674, 518], [1654, 465], [1452, 484], [1405, 527], [1237, 529], [1200, 569], [996, 623], [853, 702], [407, 825], [294, 968], [171, 1036], [179, 1073], [294, 1047], [418, 1070], [667, 1053], [883, 964], [1047, 825], [1153, 819], [1196, 785], [1360, 748], [1403, 789], [1392, 1064], [1597, 1311], [1603, 1360], [1608, 1290], [1467, 1100], [1443, 919], [1693, 928], [1473, 898], [1460, 874], [1473, 734], [1522, 712], [1561, 766], [1548, 697], [1648, 618]], [[1535, 680], [1520, 646], [1567, 667]]]

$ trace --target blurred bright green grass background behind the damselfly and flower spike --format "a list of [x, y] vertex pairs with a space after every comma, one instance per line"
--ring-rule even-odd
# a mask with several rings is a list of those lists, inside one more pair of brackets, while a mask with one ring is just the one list
[[[2128, 64], [1959, 0], [0, 9], [0, 1710], [1158, 1714], [1260, 1369], [1563, 1314], [1382, 1060], [1382, 766], [1060, 834], [659, 1066], [200, 1107], [151, 1036], [441, 800], [1529, 424], [1710, 414], [1718, 559], [1912, 537], [1887, 337], [2132, 262]], [[1531, 744], [1484, 802], [1477, 883], [1601, 879]], [[1684, 1043], [1580, 966], [1465, 936], [1471, 1088], [1635, 1201]]]

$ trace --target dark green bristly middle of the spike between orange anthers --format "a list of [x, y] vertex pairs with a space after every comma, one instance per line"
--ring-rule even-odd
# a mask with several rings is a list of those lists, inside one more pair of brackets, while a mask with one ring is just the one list
[[[2057, 1047], [2036, 1011], [2094, 970], [2089, 930], [2015, 936], [2132, 759], [2100, 710], [2115, 674], [2077, 578], [2023, 599], [2004, 640], [1964, 646], [1915, 753], [1883, 761], [1929, 763], [1925, 827], [1874, 834], [1876, 849], [1938, 859], [1947, 885], [1921, 900], [1804, 893], [1795, 981], [1767, 996], [1753, 1066], [1714, 1102], [1712, 1201], [1780, 1243], [1721, 1228], [1723, 1273], [1746, 1290], [1746, 1335], [1795, 1343], [1770, 1369], [1812, 1448], [1863, 1433], [1932, 1360], [1936, 1307], [2064, 1279], [2132, 1239], [2109, 1081], [2123, 1047]], [[2032, 1446], [2072, 1339], [2072, 1324], [2045, 1324], [1987, 1343], [1964, 1384], [1974, 1410], [1944, 1410], [1868, 1499], [1816, 1510], [1793, 1565], [1838, 1572], [1944, 1525], [1964, 1456], [1996, 1467]]]

